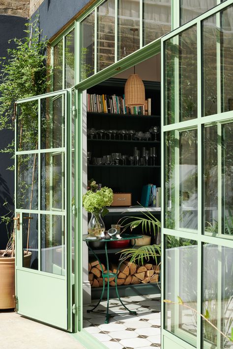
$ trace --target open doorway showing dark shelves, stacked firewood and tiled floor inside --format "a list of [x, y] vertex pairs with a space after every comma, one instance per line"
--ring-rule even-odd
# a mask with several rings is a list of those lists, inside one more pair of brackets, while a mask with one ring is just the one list
[[[129, 198], [126, 206], [108, 208], [109, 214], [104, 217], [106, 230], [113, 224], [121, 225], [124, 218], [129, 216], [141, 219], [146, 218], [146, 215], [153, 215], [160, 222], [160, 69], [160, 54], [135, 66], [136, 74], [145, 85], [145, 109], [124, 108], [124, 85], [130, 74], [134, 73], [134, 67], [83, 92], [83, 193], [87, 191], [88, 181], [93, 179], [96, 184], [112, 188], [114, 193], [124, 193], [125, 199]], [[109, 107], [108, 112], [104, 107], [104, 101]], [[116, 102], [117, 106], [114, 105]], [[157, 201], [154, 200], [151, 206], [145, 209], [144, 206], [148, 203], [144, 202], [142, 191], [148, 184], [156, 187]], [[84, 235], [87, 234], [89, 219], [90, 214], [84, 210]], [[120, 229], [122, 232], [123, 226]], [[143, 245], [156, 248], [155, 246], [160, 244], [158, 230], [153, 234], [152, 229], [142, 231], [142, 226], [139, 226], [132, 232], [128, 228], [123, 233], [143, 234], [142, 242], [138, 239], [134, 250], [140, 248], [137, 243], [142, 248]], [[83, 243], [84, 329], [109, 348], [137, 348], [139, 344], [140, 348], [160, 347], [160, 252], [156, 251], [156, 259], [150, 256], [134, 261], [135, 269], [127, 266], [130, 257], [125, 259], [117, 277], [120, 299], [116, 294], [116, 280], [110, 280], [110, 319], [105, 323], [108, 306], [107, 285], [103, 300], [95, 309], [96, 312], [88, 311], [99, 302], [103, 284], [106, 284], [98, 262], [101, 262], [104, 270], [107, 268], [106, 251], [104, 242], [88, 243], [89, 250], [87, 243]], [[116, 269], [122, 258], [121, 251], [130, 251], [132, 247], [131, 241], [126, 241], [124, 247], [115, 245], [115, 242], [108, 242], [110, 271]], [[120, 301], [131, 313], [125, 314], [127, 311]]]

